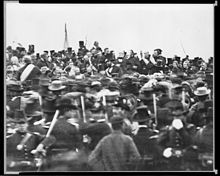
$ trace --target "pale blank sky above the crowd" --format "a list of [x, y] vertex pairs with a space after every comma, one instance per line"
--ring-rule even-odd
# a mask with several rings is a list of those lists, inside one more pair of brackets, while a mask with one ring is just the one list
[[65, 23], [69, 46], [87, 39], [120, 51], [156, 48], [163, 55], [205, 60], [214, 56], [213, 4], [5, 4], [5, 45], [35, 51], [63, 50]]

